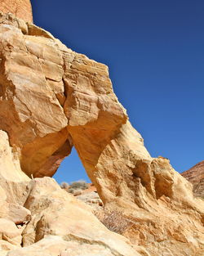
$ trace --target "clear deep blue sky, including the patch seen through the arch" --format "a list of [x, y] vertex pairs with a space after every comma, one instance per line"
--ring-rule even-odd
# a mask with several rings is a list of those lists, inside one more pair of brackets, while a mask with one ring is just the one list
[[[33, 0], [36, 25], [109, 65], [113, 89], [153, 157], [183, 172], [204, 159], [203, 0]], [[86, 179], [76, 151], [58, 182]]]

